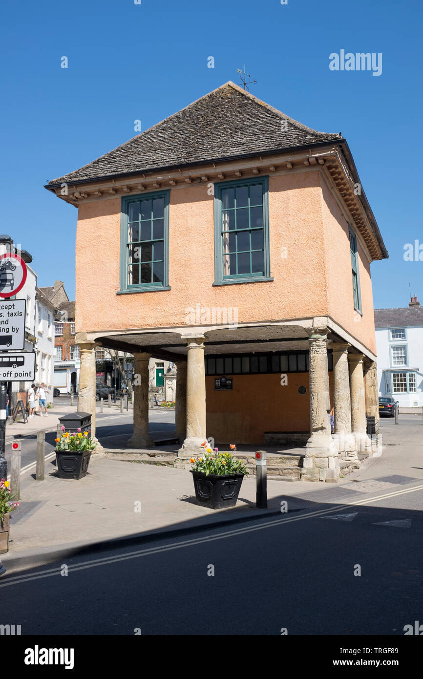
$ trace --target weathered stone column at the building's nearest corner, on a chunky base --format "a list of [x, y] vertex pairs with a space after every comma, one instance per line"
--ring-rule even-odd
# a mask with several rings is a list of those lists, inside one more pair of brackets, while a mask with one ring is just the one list
[[310, 343], [310, 439], [301, 478], [306, 481], [333, 481], [339, 478], [339, 460], [331, 437], [329, 411], [329, 372], [327, 367], [327, 328], [306, 329]]

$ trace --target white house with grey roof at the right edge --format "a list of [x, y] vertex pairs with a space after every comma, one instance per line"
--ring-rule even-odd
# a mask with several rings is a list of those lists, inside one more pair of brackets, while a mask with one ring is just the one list
[[375, 309], [378, 387], [400, 407], [423, 406], [423, 309], [417, 297], [408, 308]]

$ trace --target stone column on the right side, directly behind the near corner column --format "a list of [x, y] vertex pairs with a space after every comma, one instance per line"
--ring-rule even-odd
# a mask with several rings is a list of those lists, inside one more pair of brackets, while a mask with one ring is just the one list
[[348, 372], [348, 342], [332, 342], [333, 351], [333, 439], [341, 457], [356, 459], [356, 443], [351, 428], [350, 375]]

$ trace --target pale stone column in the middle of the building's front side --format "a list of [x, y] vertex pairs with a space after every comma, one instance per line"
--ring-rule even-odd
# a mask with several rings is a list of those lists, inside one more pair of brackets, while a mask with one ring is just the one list
[[178, 455], [201, 454], [206, 440], [206, 374], [204, 370], [204, 335], [183, 335], [187, 354], [187, 434]]

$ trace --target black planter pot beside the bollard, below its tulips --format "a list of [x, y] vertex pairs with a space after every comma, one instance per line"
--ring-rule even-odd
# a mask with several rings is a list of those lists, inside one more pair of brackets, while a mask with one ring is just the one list
[[210, 509], [235, 507], [244, 474], [204, 474], [190, 470], [198, 504]]

